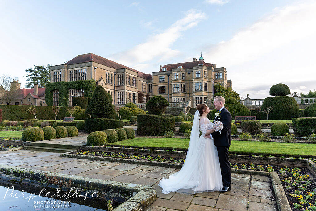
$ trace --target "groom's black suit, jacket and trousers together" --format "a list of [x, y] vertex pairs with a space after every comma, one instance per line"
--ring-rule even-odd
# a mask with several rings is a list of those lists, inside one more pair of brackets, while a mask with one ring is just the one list
[[222, 134], [220, 132], [213, 132], [214, 144], [217, 147], [219, 163], [222, 169], [222, 180], [225, 186], [230, 187], [230, 164], [228, 150], [232, 144], [231, 125], [232, 115], [224, 107], [221, 110], [220, 116], [216, 117], [214, 121], [221, 121], [224, 124]]

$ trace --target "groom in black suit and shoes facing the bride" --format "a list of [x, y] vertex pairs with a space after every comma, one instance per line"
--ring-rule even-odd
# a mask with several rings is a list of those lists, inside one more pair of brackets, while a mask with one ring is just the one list
[[222, 180], [224, 187], [219, 192], [225, 193], [231, 190], [230, 187], [230, 164], [228, 160], [228, 150], [229, 146], [232, 144], [232, 136], [231, 136], [231, 125], [232, 125], [232, 115], [229, 111], [224, 107], [225, 98], [222, 96], [216, 96], [214, 98], [214, 106], [217, 109], [218, 116], [215, 117], [215, 121], [221, 121], [224, 124], [224, 128], [220, 132], [213, 132], [208, 136], [204, 136], [205, 138], [214, 138], [214, 145], [217, 147], [217, 153], [219, 157], [220, 166], [222, 169]]

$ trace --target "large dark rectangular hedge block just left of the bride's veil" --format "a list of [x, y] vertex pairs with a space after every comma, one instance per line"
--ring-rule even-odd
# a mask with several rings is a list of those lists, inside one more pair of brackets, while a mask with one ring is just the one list
[[137, 133], [139, 135], [163, 136], [166, 131], [175, 130], [174, 116], [138, 115]]

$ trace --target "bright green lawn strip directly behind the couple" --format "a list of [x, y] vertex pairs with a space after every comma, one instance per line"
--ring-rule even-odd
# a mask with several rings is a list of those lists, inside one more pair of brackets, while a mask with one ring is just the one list
[[[184, 138], [133, 138], [125, 141], [114, 142], [112, 145], [179, 148], [187, 149], [189, 139]], [[274, 156], [316, 156], [316, 144], [284, 143], [284, 142], [254, 142], [232, 141], [229, 147], [230, 154], [269, 154]]]

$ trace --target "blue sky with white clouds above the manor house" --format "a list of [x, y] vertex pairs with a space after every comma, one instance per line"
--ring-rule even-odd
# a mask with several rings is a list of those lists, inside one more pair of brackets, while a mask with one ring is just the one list
[[94, 53], [144, 73], [204, 61], [252, 99], [316, 89], [315, 1], [0, 1], [1, 74]]

